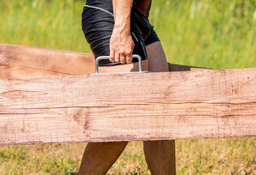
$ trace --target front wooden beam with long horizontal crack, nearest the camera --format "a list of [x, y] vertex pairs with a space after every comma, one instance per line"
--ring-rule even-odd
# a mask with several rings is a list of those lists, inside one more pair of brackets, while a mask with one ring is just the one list
[[0, 144], [256, 136], [256, 69], [0, 79]]

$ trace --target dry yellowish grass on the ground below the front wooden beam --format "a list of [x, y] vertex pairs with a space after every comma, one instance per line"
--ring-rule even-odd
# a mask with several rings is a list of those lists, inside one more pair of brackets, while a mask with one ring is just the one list
[[[85, 144], [0, 147], [0, 174], [75, 174]], [[256, 139], [176, 141], [177, 174], [256, 174]], [[128, 144], [108, 174], [150, 174], [141, 141]]]

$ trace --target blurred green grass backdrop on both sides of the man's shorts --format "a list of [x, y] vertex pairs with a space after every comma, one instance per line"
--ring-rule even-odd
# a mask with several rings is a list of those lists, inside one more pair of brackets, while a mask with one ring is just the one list
[[[0, 43], [90, 52], [79, 0], [1, 0]], [[256, 1], [158, 0], [155, 26], [169, 63], [214, 69], [256, 66]]]

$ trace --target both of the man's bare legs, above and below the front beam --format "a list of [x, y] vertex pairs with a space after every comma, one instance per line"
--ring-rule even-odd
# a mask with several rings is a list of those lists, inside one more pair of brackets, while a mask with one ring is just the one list
[[[160, 42], [148, 45], [150, 71], [168, 71]], [[82, 157], [79, 175], [106, 174], [128, 142], [89, 143]], [[175, 174], [174, 141], [144, 141], [144, 154], [152, 175]]]

